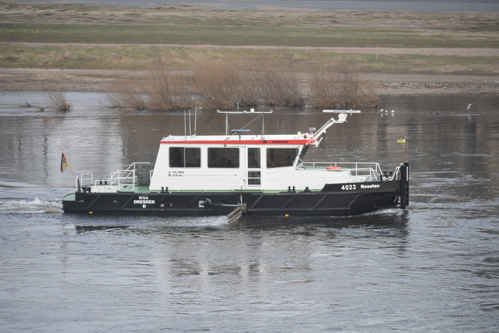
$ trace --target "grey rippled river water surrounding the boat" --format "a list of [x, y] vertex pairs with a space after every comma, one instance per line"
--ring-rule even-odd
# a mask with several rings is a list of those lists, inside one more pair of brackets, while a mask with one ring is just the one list
[[[183, 111], [109, 109], [93, 93], [68, 94], [65, 113], [20, 106], [43, 98], [0, 94], [1, 332], [499, 331], [498, 97], [385, 97], [393, 115], [362, 109], [309, 150], [393, 169], [406, 135], [407, 211], [231, 227], [223, 216], [61, 214], [74, 179], [59, 148], [77, 174], [104, 178], [154, 162], [163, 136], [189, 128]], [[265, 131], [327, 118], [277, 110]], [[202, 110], [196, 132], [219, 134], [224, 120]]]

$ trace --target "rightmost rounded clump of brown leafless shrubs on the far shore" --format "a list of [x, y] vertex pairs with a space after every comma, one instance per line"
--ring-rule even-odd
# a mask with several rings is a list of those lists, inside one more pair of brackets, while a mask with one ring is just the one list
[[374, 88], [361, 80], [355, 64], [341, 61], [333, 70], [313, 64], [310, 75], [310, 101], [314, 107], [375, 106]]

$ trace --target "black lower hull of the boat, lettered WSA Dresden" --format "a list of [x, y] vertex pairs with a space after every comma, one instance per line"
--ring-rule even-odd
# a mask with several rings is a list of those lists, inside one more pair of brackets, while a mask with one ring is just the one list
[[94, 215], [219, 216], [240, 202], [247, 216], [348, 216], [384, 208], [406, 208], [409, 182], [401, 180], [327, 184], [320, 192], [88, 193], [63, 200], [64, 213]]

